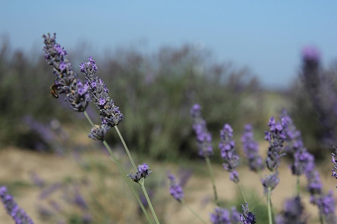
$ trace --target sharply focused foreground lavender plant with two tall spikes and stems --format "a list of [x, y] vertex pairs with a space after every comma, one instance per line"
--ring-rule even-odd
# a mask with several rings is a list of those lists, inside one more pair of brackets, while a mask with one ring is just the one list
[[[133, 187], [130, 185], [128, 180], [126, 179], [126, 174], [122, 167], [120, 166], [118, 160], [113, 155], [109, 145], [103, 140], [105, 134], [107, 132], [107, 128], [105, 125], [110, 127], [115, 127], [124, 147], [125, 150], [131, 160], [131, 163], [134, 167], [134, 170], [137, 170], [136, 165], [134, 164], [132, 157], [126, 147], [126, 144], [119, 133], [116, 125], [118, 125], [123, 120], [123, 115], [120, 113], [120, 110], [117, 106], [114, 105], [113, 100], [108, 96], [108, 89], [104, 82], [99, 79], [95, 73], [97, 71], [97, 66], [95, 61], [92, 57], [89, 57], [89, 62], [83, 62], [81, 67], [81, 72], [86, 75], [86, 83], [83, 84], [80, 79], [78, 79], [78, 75], [73, 72], [72, 64], [68, 62], [64, 58], [66, 55], [66, 51], [56, 43], [56, 34], [53, 37], [48, 35], [43, 35], [42, 38], [44, 39], [44, 52], [45, 52], [45, 59], [49, 65], [53, 68], [53, 74], [55, 74], [55, 81], [54, 84], [51, 86], [51, 91], [55, 97], [57, 97], [57, 93], [65, 93], [66, 97], [65, 100], [71, 102], [71, 107], [75, 111], [83, 112], [90, 124], [93, 126], [94, 130], [91, 131], [89, 134], [90, 137], [93, 139], [102, 140], [104, 146], [108, 150], [109, 154], [113, 158], [114, 162], [116, 163], [117, 167], [119, 168], [122, 176], [124, 177], [126, 183], [130, 187], [134, 196], [136, 196], [139, 204], [141, 205], [145, 215], [147, 216], [149, 222], [151, 223], [151, 219], [145, 210], [145, 207], [140, 200], [139, 195], [134, 191]], [[55, 92], [54, 92], [55, 91]], [[88, 106], [91, 93], [92, 97], [94, 98], [96, 108], [100, 111], [101, 119], [102, 119], [102, 126], [96, 127], [92, 120], [89, 118], [88, 114], [86, 113], [85, 109]], [[152, 207], [151, 201], [147, 195], [145, 186], [144, 186], [144, 177], [141, 179], [140, 184], [142, 186], [143, 192], [148, 200], [151, 212], [155, 218], [156, 223], [159, 223], [159, 220], [154, 212]]]

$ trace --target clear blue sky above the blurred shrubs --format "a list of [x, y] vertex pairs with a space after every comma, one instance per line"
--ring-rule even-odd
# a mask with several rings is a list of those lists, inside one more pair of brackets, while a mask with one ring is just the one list
[[[311, 44], [324, 64], [337, 59], [337, 1], [1, 1], [0, 36], [40, 49], [57, 33], [65, 49], [203, 43], [218, 61], [249, 67], [265, 86], [286, 87]], [[87, 57], [87, 56], [86, 56]]]

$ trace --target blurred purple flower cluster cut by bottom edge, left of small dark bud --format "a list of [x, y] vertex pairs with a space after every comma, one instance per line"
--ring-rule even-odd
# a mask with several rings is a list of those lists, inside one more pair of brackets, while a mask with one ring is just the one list
[[215, 208], [214, 213], [211, 213], [212, 224], [232, 224], [238, 223], [240, 214], [235, 207], [232, 207], [232, 211], [221, 207]]

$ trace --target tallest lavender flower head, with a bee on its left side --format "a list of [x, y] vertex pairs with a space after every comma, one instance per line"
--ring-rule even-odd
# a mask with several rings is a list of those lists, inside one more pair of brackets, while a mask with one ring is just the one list
[[50, 87], [51, 93], [58, 97], [57, 93], [65, 93], [65, 100], [71, 102], [71, 107], [75, 111], [84, 111], [90, 101], [88, 85], [83, 84], [78, 79], [78, 75], [73, 71], [73, 66], [64, 57], [66, 51], [56, 43], [56, 34], [51, 37], [50, 34], [43, 35], [45, 46], [44, 58], [53, 68], [55, 75], [54, 84]]

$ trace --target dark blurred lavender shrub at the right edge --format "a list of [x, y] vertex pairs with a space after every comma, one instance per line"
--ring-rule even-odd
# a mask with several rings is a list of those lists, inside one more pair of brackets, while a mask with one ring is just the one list
[[337, 62], [321, 67], [320, 59], [303, 58], [302, 70], [287, 93], [290, 114], [302, 132], [304, 144], [316, 158], [336, 144]]

